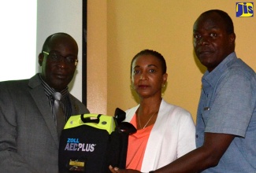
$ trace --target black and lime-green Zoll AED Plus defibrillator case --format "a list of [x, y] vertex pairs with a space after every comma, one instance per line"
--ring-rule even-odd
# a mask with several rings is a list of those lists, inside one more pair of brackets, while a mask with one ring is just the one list
[[109, 165], [125, 168], [128, 135], [136, 129], [124, 119], [125, 112], [118, 108], [115, 116], [71, 116], [61, 131], [59, 172], [110, 173]]

